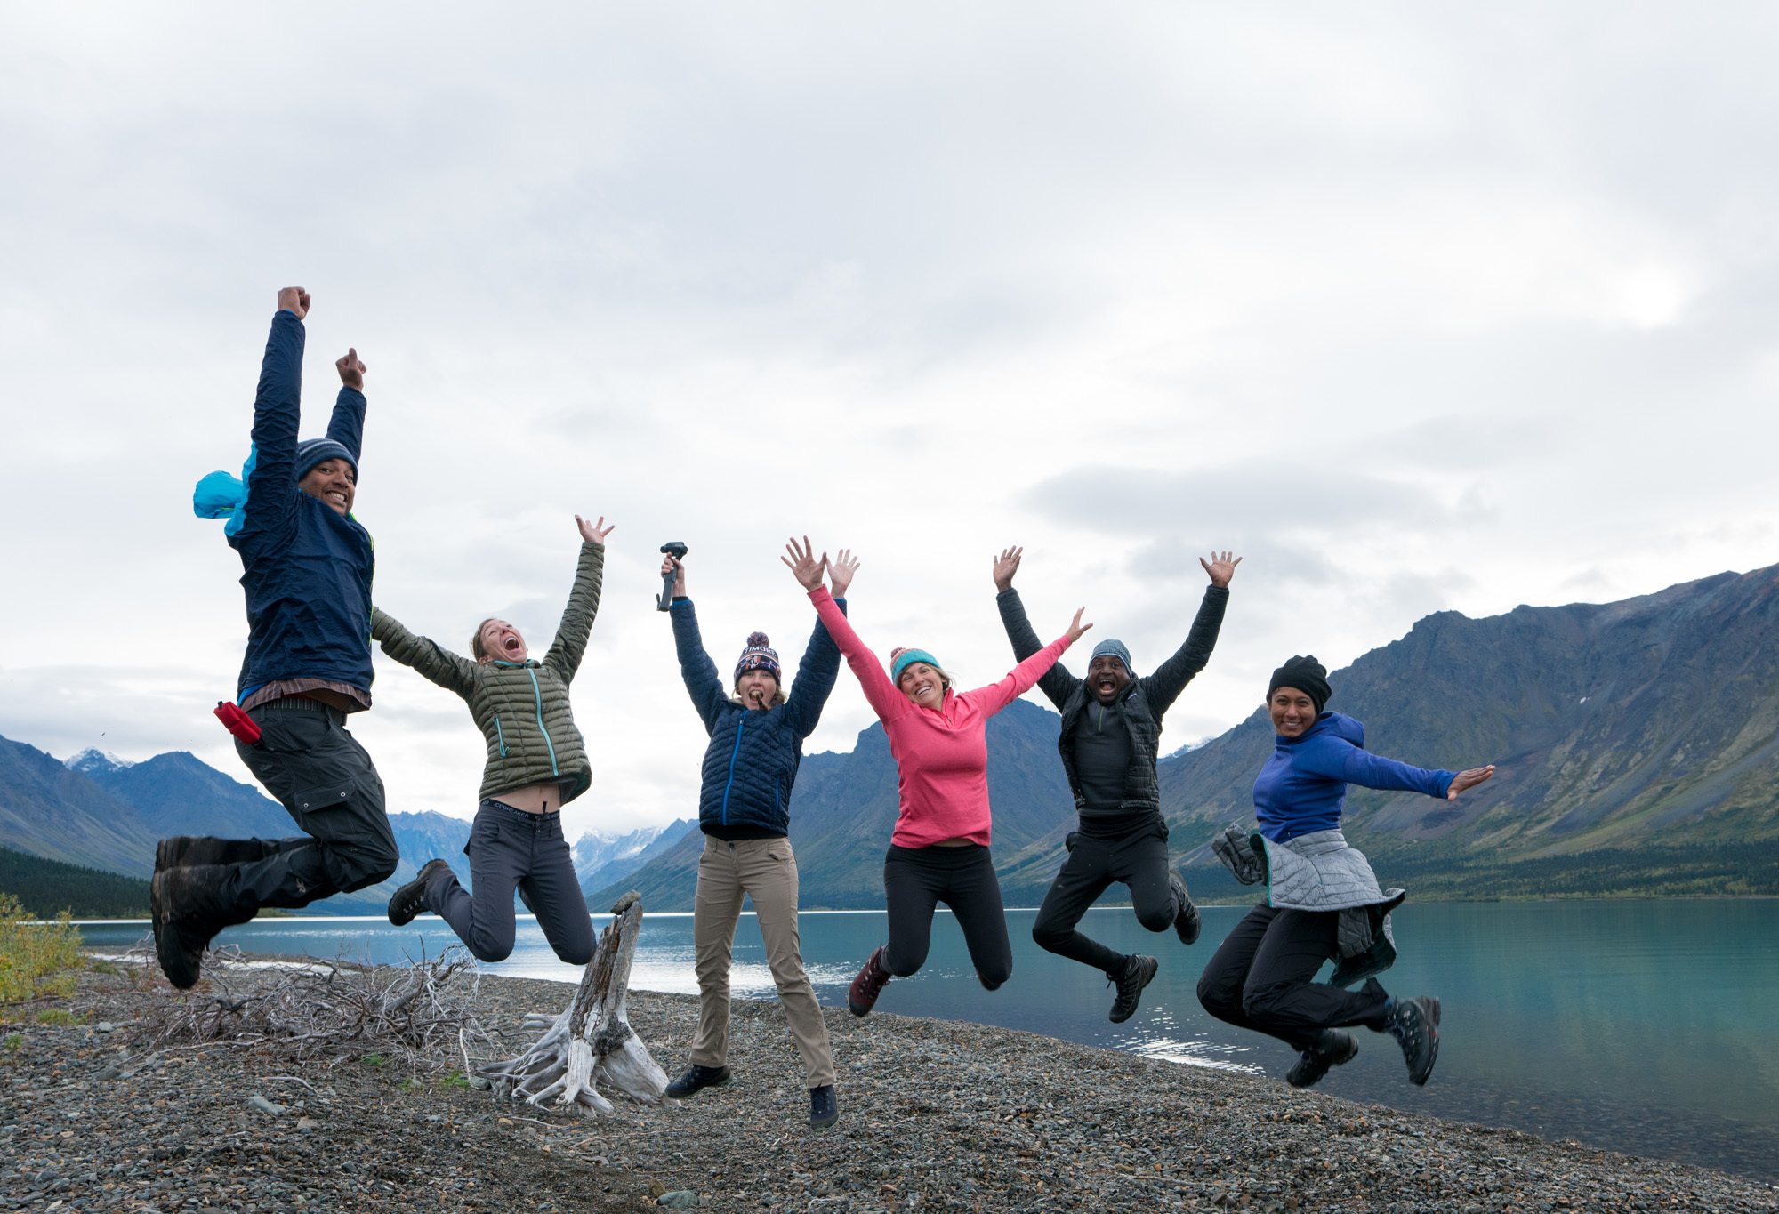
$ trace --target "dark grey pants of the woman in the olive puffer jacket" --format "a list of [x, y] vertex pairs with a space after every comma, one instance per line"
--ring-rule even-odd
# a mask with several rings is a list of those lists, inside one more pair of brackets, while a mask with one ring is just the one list
[[555, 954], [569, 965], [592, 959], [592, 920], [575, 876], [575, 856], [562, 838], [560, 813], [527, 813], [489, 797], [470, 826], [470, 894], [448, 869], [422, 890], [427, 910], [450, 924], [482, 961], [512, 952], [512, 892], [537, 915]]

